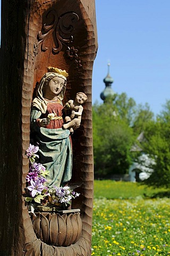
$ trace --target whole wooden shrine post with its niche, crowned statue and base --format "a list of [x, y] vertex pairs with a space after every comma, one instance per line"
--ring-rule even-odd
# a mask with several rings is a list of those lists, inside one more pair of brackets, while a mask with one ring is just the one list
[[2, 0], [1, 32], [0, 256], [90, 256], [95, 0]]

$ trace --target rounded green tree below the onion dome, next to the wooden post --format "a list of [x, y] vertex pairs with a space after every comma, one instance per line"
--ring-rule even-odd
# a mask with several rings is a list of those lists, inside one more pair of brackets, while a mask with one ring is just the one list
[[93, 131], [95, 174], [125, 173], [131, 163], [133, 131], [115, 115], [113, 104], [94, 106]]

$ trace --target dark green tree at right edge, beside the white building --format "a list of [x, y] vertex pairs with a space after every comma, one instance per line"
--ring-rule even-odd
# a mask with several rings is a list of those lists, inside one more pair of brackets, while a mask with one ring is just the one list
[[143, 143], [143, 150], [156, 156], [154, 172], [146, 184], [155, 187], [169, 187], [170, 185], [170, 124], [157, 119], [150, 122], [145, 130], [146, 141]]

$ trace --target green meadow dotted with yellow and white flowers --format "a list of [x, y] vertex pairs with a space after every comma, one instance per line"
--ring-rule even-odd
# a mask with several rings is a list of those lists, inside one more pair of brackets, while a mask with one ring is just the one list
[[138, 183], [95, 181], [91, 255], [170, 255], [165, 195], [166, 189]]

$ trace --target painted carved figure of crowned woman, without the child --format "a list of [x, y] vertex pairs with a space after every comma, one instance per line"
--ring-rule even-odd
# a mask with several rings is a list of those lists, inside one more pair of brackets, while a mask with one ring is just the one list
[[[64, 186], [71, 180], [72, 148], [69, 130], [63, 130], [63, 104], [66, 90], [65, 70], [48, 67], [32, 101], [32, 139], [38, 143], [39, 162], [49, 171], [46, 186]], [[49, 115], [54, 114], [53, 119]]]

